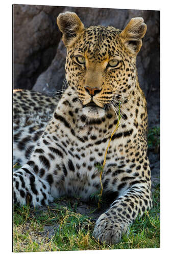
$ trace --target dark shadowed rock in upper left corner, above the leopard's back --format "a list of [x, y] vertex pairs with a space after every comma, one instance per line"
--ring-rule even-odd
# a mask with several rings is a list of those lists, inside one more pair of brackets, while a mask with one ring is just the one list
[[56, 55], [63, 7], [13, 5], [14, 88], [32, 89]]

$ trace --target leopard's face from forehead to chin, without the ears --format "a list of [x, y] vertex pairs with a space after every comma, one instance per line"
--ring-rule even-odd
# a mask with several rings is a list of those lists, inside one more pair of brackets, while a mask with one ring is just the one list
[[67, 49], [66, 79], [87, 118], [114, 111], [134, 89], [135, 56], [124, 47], [120, 32], [113, 27], [89, 27]]

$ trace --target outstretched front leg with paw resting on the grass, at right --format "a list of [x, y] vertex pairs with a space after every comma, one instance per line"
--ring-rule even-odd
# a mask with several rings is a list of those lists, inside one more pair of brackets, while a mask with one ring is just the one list
[[138, 183], [118, 197], [111, 207], [96, 221], [93, 237], [107, 244], [118, 243], [123, 233], [140, 213], [152, 207], [151, 189], [148, 184]]

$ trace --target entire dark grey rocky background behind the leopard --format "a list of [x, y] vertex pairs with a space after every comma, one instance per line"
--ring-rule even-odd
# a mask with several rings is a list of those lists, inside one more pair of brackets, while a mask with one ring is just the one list
[[[160, 12], [105, 8], [13, 5], [13, 87], [53, 95], [62, 89], [66, 49], [56, 18], [76, 12], [85, 27], [112, 25], [124, 29], [143, 17], [148, 30], [137, 57], [139, 83], [148, 102], [149, 127], [160, 122]], [[159, 148], [149, 151], [152, 174], [159, 174]]]

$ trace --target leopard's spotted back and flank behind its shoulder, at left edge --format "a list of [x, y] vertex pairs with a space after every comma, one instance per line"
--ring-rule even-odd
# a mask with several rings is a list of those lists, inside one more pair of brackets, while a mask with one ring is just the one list
[[13, 90], [13, 164], [29, 159], [58, 101], [39, 92]]

